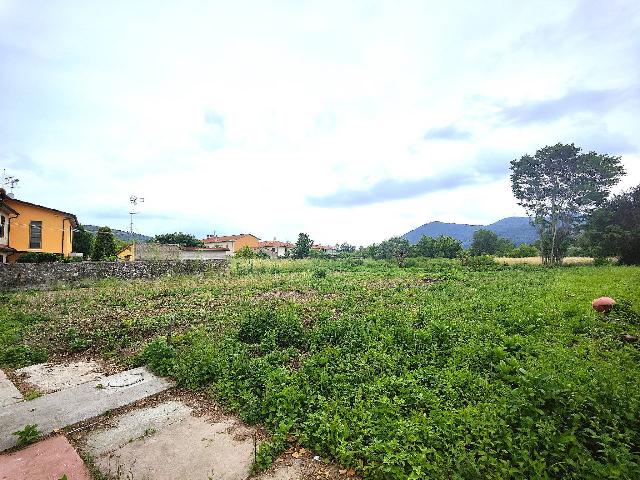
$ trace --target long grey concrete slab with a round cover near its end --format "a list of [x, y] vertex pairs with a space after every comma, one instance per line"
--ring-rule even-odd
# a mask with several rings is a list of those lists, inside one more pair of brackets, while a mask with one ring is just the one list
[[50, 393], [30, 402], [20, 402], [0, 410], [0, 452], [17, 444], [12, 432], [37, 424], [42, 434], [88, 420], [137, 400], [162, 392], [171, 382], [156, 377], [146, 368], [127, 370], [98, 382]]

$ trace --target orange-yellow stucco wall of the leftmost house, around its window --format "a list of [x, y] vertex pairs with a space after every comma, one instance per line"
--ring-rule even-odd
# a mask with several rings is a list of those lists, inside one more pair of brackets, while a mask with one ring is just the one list
[[[10, 247], [19, 252], [71, 253], [73, 226], [68, 216], [11, 198], [5, 198], [4, 203], [20, 214], [9, 221]], [[32, 221], [42, 222], [41, 248], [29, 248], [29, 223]], [[10, 261], [17, 258], [15, 255], [12, 257], [15, 258], [10, 257]]]

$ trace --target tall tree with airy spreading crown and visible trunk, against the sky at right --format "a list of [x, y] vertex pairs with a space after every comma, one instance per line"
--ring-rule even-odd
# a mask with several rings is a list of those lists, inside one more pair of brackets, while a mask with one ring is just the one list
[[620, 157], [582, 153], [574, 144], [547, 146], [511, 161], [511, 188], [540, 235], [542, 261], [562, 261], [575, 228], [624, 175]]

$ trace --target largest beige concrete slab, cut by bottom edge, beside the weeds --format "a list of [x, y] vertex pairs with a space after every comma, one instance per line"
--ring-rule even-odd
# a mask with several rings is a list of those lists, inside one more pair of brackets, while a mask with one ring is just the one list
[[187, 417], [94, 458], [104, 474], [153, 480], [244, 480], [253, 463], [253, 438], [234, 420]]

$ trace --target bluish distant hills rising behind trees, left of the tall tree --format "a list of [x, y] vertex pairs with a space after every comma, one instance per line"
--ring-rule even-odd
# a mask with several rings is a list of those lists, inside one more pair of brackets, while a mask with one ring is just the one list
[[533, 243], [538, 240], [538, 234], [529, 223], [529, 218], [527, 217], [507, 217], [490, 225], [429, 222], [405, 233], [402, 237], [415, 244], [424, 235], [428, 237], [449, 235], [460, 240], [464, 247], [470, 247], [473, 241], [473, 233], [483, 228], [495, 232], [499, 237], [511, 240], [516, 246], [522, 243]]

